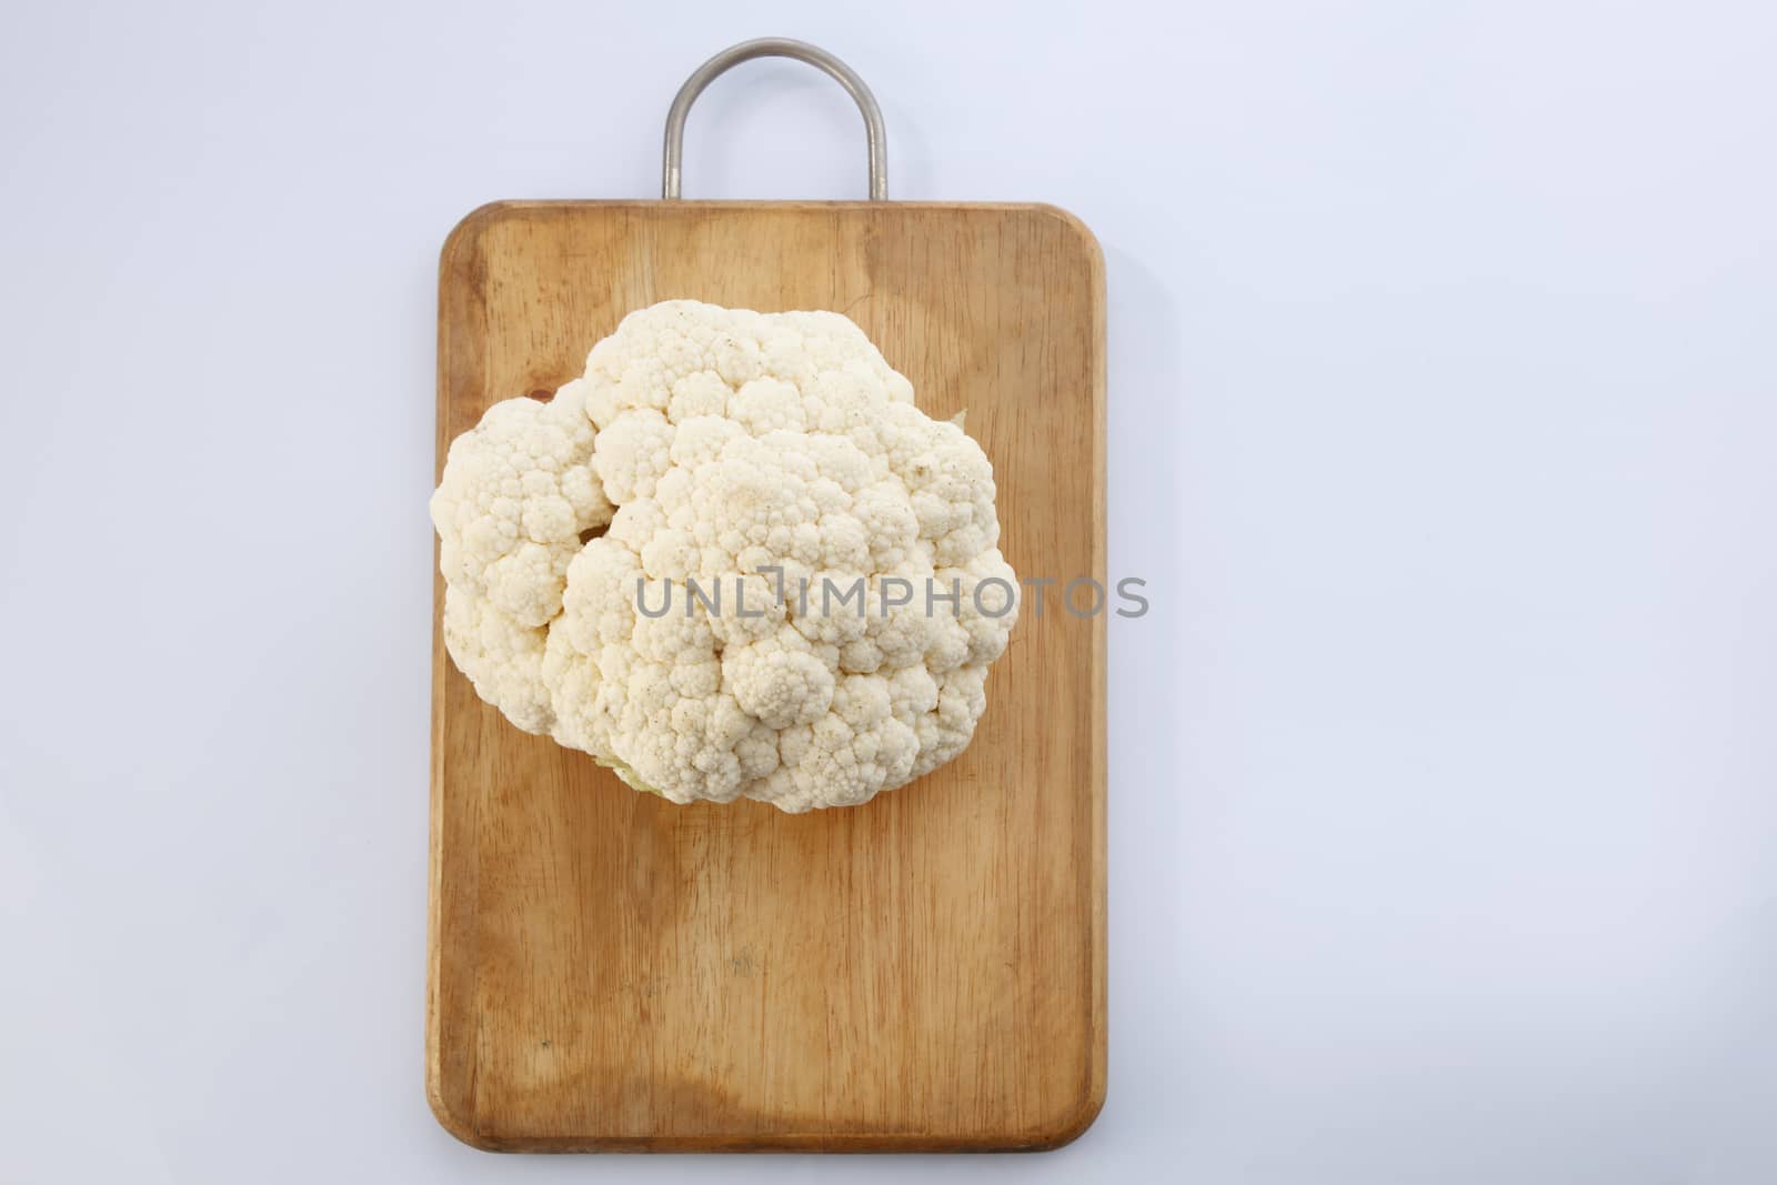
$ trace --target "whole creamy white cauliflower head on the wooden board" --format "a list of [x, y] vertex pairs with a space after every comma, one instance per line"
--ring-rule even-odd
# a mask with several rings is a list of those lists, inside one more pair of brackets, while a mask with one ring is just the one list
[[979, 444], [848, 318], [668, 300], [451, 446], [446, 643], [638, 789], [862, 803], [986, 709], [1018, 618], [993, 503]]

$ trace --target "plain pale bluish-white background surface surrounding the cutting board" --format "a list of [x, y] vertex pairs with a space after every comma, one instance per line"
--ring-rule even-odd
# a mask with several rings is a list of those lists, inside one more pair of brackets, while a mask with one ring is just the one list
[[[750, 36], [1104, 243], [1111, 1091], [524, 1158], [421, 1091], [437, 249]], [[0, 1180], [1777, 1180], [1768, 5], [12, 4]], [[691, 197], [858, 197], [718, 82]], [[1118, 1176], [1112, 1176], [1118, 1174]]]

